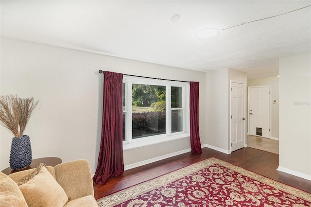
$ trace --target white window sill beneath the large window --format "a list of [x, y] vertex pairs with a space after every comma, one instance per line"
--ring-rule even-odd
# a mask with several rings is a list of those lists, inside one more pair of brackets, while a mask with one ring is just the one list
[[190, 138], [189, 133], [183, 133], [183, 134], [178, 134], [178, 135], [173, 135], [173, 136], [156, 136], [154, 138], [147, 138], [144, 140], [134, 140], [132, 142], [123, 142], [123, 150], [132, 150], [136, 148], [141, 148], [141, 147], [146, 147], [150, 145], [155, 145], [158, 143], [164, 143], [168, 141], [172, 141], [175, 139], [182, 139], [182, 138]]

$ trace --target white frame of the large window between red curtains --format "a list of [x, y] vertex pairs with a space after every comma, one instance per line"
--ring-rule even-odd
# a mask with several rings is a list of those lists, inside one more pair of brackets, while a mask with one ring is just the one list
[[[125, 107], [123, 113], [126, 115], [125, 121], [125, 141], [123, 141], [123, 150], [144, 147], [161, 142], [167, 142], [173, 139], [190, 138], [190, 108], [189, 94], [190, 84], [187, 82], [176, 82], [157, 80], [149, 78], [139, 78], [132, 76], [123, 76], [125, 83]], [[171, 96], [166, 95], [166, 133], [161, 135], [147, 136], [143, 138], [132, 139], [132, 84], [166, 86], [166, 94], [171, 94], [171, 87], [182, 87], [182, 108], [171, 108]], [[183, 109], [183, 131], [172, 133], [172, 110]]]

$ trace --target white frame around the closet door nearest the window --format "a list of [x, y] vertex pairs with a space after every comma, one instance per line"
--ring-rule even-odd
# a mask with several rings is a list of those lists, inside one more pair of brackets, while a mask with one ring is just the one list
[[[229, 152], [232, 152], [232, 147], [231, 147], [231, 87], [232, 87], [232, 83], [238, 83], [238, 84], [243, 84], [243, 90], [244, 90], [244, 96], [243, 96], [243, 104], [244, 104], [244, 110], [243, 110], [243, 117], [246, 118], [246, 82], [244, 81], [235, 81], [235, 80], [230, 80], [230, 86], [229, 86]], [[243, 121], [243, 128], [244, 128], [244, 132], [242, 132], [244, 134], [244, 143], [243, 146], [247, 147], [246, 145], [246, 120]]]

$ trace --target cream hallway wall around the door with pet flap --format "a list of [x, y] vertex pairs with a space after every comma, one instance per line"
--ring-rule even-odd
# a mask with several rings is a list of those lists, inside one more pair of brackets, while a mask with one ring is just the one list
[[[247, 86], [271, 86], [271, 137], [278, 139], [278, 111], [279, 111], [279, 78], [277, 76], [264, 77], [264, 78], [251, 78], [247, 80]], [[276, 100], [276, 104], [273, 103]]]

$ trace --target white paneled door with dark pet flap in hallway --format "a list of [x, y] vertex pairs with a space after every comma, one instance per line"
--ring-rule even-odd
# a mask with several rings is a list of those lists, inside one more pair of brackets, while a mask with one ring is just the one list
[[270, 138], [270, 86], [248, 87], [248, 133]]

